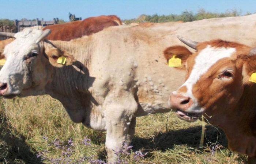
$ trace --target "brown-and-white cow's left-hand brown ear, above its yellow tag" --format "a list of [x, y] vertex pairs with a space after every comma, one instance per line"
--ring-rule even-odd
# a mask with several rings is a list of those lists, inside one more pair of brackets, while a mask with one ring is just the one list
[[184, 46], [172, 46], [163, 51], [163, 56], [165, 56], [167, 63], [169, 59], [173, 58], [173, 55], [175, 55], [175, 58], [181, 59], [181, 67], [176, 67], [178, 69], [185, 69], [186, 61], [191, 54], [192, 52], [190, 52], [188, 48]]

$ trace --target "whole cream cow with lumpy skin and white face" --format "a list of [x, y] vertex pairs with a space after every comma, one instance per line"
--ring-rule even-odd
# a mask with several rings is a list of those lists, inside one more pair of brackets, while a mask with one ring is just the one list
[[[69, 42], [44, 40], [46, 33], [25, 29], [5, 47], [0, 94], [58, 99], [72, 121], [107, 131], [106, 150], [115, 161], [113, 150], [129, 144], [135, 117], [170, 111], [169, 94], [184, 82], [185, 71], [165, 65], [162, 52], [182, 45], [176, 35], [256, 46], [256, 15], [110, 27]], [[67, 66], [56, 63], [59, 56]]]

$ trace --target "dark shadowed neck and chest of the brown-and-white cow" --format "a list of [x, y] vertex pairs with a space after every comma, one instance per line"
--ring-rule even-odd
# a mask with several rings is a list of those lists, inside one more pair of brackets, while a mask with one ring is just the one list
[[[256, 152], [248, 152], [252, 145], [256, 146], [256, 85], [245, 85], [244, 92], [238, 104], [229, 110], [229, 115], [220, 120], [226, 120], [219, 125], [229, 139], [229, 147], [249, 156]], [[224, 109], [223, 109], [224, 110]], [[252, 150], [255, 150], [254, 148]]]

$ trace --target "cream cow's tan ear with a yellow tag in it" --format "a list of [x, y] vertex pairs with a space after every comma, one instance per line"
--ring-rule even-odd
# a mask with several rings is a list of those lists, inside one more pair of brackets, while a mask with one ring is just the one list
[[73, 55], [56, 47], [46, 48], [45, 54], [54, 67], [72, 65], [76, 61]]

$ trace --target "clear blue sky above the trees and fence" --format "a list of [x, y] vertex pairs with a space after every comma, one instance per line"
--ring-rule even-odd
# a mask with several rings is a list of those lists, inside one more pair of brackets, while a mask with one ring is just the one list
[[200, 8], [212, 12], [238, 9], [246, 13], [256, 12], [255, 4], [255, 0], [0, 0], [0, 18], [52, 20], [59, 17], [68, 21], [71, 12], [82, 19], [112, 14], [131, 19], [141, 14], [180, 14]]

